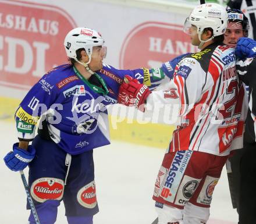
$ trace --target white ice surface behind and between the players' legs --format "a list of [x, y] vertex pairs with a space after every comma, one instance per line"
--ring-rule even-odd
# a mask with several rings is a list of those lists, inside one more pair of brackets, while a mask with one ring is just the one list
[[[17, 141], [13, 123], [0, 122], [0, 223], [25, 224], [26, 193], [19, 172], [6, 168], [3, 157]], [[157, 217], [152, 201], [155, 178], [165, 150], [113, 141], [94, 150], [95, 182], [99, 213], [94, 224], [151, 224]], [[25, 170], [27, 176], [27, 169]], [[215, 187], [208, 224], [237, 223], [232, 208], [226, 170]], [[63, 204], [59, 207], [56, 224], [66, 222]]]

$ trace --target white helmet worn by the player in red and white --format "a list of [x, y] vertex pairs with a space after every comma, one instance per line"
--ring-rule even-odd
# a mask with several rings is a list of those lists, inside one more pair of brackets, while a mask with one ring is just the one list
[[186, 19], [184, 24], [185, 33], [187, 33], [187, 28], [191, 27], [191, 25], [197, 27], [197, 33], [200, 41], [202, 41], [202, 31], [204, 31], [205, 28], [211, 28], [213, 30], [213, 36], [209, 40], [212, 40], [214, 37], [225, 33], [227, 27], [226, 9], [222, 5], [216, 3], [198, 5]]

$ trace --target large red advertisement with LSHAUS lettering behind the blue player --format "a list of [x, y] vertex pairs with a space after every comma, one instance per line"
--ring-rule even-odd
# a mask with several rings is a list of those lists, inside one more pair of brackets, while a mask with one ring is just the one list
[[63, 41], [76, 23], [52, 5], [0, 0], [0, 85], [29, 89], [66, 63]]

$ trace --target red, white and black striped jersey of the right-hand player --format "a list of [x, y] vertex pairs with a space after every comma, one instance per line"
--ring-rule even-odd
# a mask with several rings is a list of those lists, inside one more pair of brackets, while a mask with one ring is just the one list
[[168, 90], [153, 91], [147, 104], [179, 104], [179, 125], [169, 151], [228, 155], [243, 147], [247, 106], [236, 74], [234, 48], [211, 44], [177, 64]]

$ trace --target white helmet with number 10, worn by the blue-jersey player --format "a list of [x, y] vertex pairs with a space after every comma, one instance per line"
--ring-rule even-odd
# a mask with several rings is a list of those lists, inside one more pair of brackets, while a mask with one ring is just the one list
[[77, 27], [69, 31], [66, 35], [64, 46], [67, 56], [75, 59], [76, 61], [78, 61], [76, 51], [80, 48], [84, 48], [89, 57], [89, 61], [87, 62], [88, 64], [91, 61], [93, 47], [103, 46], [104, 42], [104, 39], [98, 31], [86, 27]]

